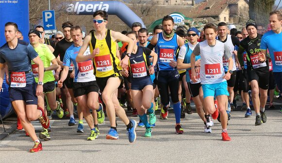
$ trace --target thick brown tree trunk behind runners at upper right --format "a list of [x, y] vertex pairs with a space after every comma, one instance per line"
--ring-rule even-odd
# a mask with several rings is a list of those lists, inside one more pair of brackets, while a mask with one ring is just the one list
[[267, 26], [269, 13], [275, 0], [249, 0], [249, 18], [262, 26]]

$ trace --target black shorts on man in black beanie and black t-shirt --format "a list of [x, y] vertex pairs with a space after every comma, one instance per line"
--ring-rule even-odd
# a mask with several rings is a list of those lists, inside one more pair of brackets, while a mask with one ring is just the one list
[[268, 84], [269, 84], [269, 71], [265, 68], [259, 68], [258, 70], [251, 70], [247, 69], [247, 74], [249, 81], [252, 80], [258, 81], [259, 87], [263, 90], [268, 90]]

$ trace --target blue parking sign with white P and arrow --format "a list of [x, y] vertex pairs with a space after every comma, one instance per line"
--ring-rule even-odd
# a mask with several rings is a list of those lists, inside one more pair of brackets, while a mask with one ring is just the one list
[[43, 18], [43, 27], [45, 30], [56, 29], [54, 10], [42, 11], [42, 18]]

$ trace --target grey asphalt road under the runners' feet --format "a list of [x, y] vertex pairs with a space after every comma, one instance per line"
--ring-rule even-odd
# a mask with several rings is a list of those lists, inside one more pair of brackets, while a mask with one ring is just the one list
[[[33, 146], [23, 130], [15, 130], [0, 141], [1, 163], [281, 163], [282, 113], [266, 110], [267, 123], [254, 126], [255, 116], [245, 118], [245, 111], [232, 111], [228, 132], [230, 142], [221, 140], [221, 126], [214, 120], [212, 133], [204, 133], [204, 124], [194, 112], [182, 119], [183, 135], [175, 134], [173, 110], [169, 119], [160, 120], [151, 138], [143, 137], [144, 128], [137, 127], [137, 140], [128, 142], [126, 127], [118, 120], [119, 140], [106, 140], [109, 122], [100, 124], [100, 137], [87, 141], [90, 133], [84, 121], [85, 133], [76, 133], [76, 126], [68, 127], [68, 119], [51, 120], [50, 141], [43, 141], [43, 151], [29, 153]], [[254, 113], [254, 111], [253, 111]], [[130, 112], [129, 112], [130, 114]], [[131, 116], [129, 116], [132, 118]], [[136, 121], [139, 119], [134, 117]], [[36, 132], [38, 121], [33, 122]], [[37, 133], [38, 135], [39, 133]]]

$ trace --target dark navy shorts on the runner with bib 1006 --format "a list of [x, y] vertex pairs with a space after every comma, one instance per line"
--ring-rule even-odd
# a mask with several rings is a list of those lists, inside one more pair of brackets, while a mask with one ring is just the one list
[[26, 105], [37, 105], [36, 84], [27, 84], [24, 88], [9, 87], [11, 101], [22, 100]]

